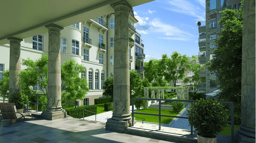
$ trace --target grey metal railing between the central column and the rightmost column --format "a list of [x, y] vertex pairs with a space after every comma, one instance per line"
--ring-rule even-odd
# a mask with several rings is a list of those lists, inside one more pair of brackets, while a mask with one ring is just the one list
[[[159, 103], [159, 114], [149, 114], [149, 113], [140, 113], [140, 112], [134, 112], [134, 100], [157, 100]], [[141, 115], [151, 115], [151, 116], [158, 116], [159, 117], [159, 130], [161, 130], [161, 117], [172, 117], [172, 118], [183, 118], [188, 119], [187, 116], [171, 116], [171, 115], [162, 115], [161, 114], [161, 101], [178, 101], [178, 102], [195, 102], [196, 100], [174, 100], [174, 99], [150, 99], [150, 98], [132, 98], [132, 116], [134, 117], [134, 114], [141, 114]], [[222, 102], [224, 104], [231, 104], [231, 121], [227, 121], [228, 123], [231, 123], [231, 137], [232, 140], [234, 140], [234, 102]], [[132, 126], [134, 122], [134, 118], [132, 118]], [[193, 134], [193, 126], [191, 125], [190, 134]]]

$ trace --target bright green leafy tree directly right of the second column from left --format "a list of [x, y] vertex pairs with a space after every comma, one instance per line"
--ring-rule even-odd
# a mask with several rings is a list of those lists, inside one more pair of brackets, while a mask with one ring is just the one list
[[70, 102], [84, 99], [87, 91], [89, 91], [86, 79], [79, 76], [84, 70], [83, 65], [73, 59], [61, 65], [61, 87], [65, 87], [61, 94], [62, 99]]

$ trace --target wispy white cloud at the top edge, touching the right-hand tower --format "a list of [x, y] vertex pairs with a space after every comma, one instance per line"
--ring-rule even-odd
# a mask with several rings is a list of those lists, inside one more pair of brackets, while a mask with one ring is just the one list
[[186, 0], [169, 0], [168, 3], [173, 5], [174, 7], [166, 8], [170, 11], [183, 13], [185, 15], [190, 15], [197, 18], [197, 21], [205, 21], [205, 1], [197, 0], [202, 6], [204, 5], [204, 9], [190, 3]]

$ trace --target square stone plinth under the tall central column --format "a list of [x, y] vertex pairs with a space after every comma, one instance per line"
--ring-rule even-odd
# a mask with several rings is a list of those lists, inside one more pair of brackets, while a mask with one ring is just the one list
[[[133, 124], [135, 123], [136, 123], [136, 120], [134, 118]], [[117, 121], [110, 118], [106, 122], [106, 130], [126, 131], [126, 129], [130, 126], [132, 126], [132, 119], [125, 120], [125, 121]]]

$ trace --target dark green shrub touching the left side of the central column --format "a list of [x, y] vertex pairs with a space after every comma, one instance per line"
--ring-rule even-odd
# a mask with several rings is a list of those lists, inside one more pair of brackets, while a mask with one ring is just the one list
[[110, 96], [113, 99], [114, 92], [114, 77], [108, 77], [104, 81], [103, 96]]

